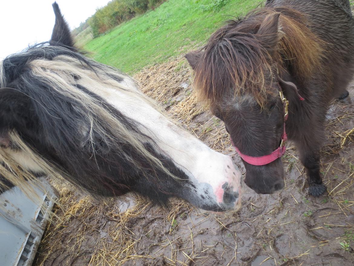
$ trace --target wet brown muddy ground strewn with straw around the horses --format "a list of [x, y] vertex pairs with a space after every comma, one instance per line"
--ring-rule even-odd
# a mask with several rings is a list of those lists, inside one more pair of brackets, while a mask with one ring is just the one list
[[[222, 122], [196, 104], [191, 78], [183, 59], [136, 75], [165, 111], [244, 172]], [[349, 91], [354, 100], [354, 82]], [[334, 102], [327, 118], [325, 195], [308, 196], [291, 142], [285, 188], [258, 195], [244, 185], [237, 214], [210, 214], [180, 200], [170, 210], [129, 196], [97, 203], [56, 185], [63, 207], [56, 207], [34, 265], [353, 266], [354, 135], [345, 137], [354, 128], [354, 104]]]

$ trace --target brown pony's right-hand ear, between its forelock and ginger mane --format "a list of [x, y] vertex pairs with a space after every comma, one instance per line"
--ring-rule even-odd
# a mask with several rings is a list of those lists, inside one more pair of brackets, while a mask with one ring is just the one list
[[281, 38], [279, 24], [280, 13], [273, 13], [265, 17], [257, 32], [257, 39], [261, 42], [270, 55], [273, 55], [276, 44]]

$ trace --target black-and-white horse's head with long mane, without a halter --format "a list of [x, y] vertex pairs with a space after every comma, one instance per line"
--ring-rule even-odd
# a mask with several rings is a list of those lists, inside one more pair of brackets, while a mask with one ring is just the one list
[[132, 78], [80, 54], [53, 4], [49, 44], [0, 63], [0, 192], [50, 175], [99, 196], [240, 204], [241, 174], [155, 109]]

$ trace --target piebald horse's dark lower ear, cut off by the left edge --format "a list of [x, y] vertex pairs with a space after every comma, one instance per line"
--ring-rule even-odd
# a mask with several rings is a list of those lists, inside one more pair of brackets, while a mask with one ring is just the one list
[[0, 145], [9, 145], [8, 133], [22, 131], [29, 125], [30, 99], [11, 88], [0, 89]]

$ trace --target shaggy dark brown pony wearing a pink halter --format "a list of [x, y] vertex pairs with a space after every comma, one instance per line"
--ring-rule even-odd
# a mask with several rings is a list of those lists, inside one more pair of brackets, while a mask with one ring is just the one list
[[[326, 191], [319, 168], [326, 111], [333, 98], [348, 96], [354, 72], [349, 1], [267, 1], [185, 57], [197, 94], [224, 121], [243, 160], [258, 160], [281, 146], [285, 123], [306, 167], [309, 194]], [[279, 92], [289, 101], [287, 120]], [[263, 165], [244, 160], [245, 183], [257, 193], [281, 189], [280, 157]]]

